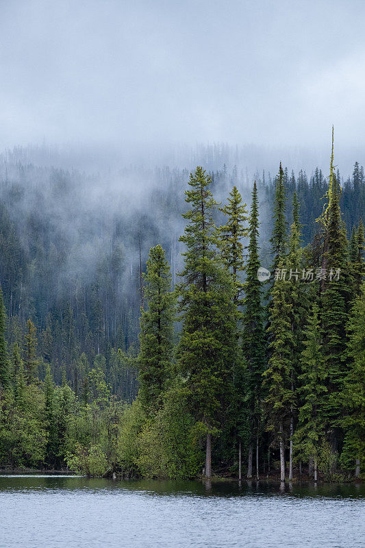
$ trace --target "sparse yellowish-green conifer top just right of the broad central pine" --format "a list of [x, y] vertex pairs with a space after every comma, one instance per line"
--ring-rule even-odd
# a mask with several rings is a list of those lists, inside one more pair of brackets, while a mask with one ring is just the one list
[[242, 238], [247, 236], [247, 229], [244, 223], [247, 221], [247, 206], [242, 203], [242, 197], [236, 186], [229, 193], [228, 203], [220, 208], [227, 216], [227, 223], [219, 227], [218, 234], [221, 240], [222, 255], [232, 273], [234, 286], [236, 288], [235, 302], [241, 303], [243, 284], [240, 275], [244, 270]]

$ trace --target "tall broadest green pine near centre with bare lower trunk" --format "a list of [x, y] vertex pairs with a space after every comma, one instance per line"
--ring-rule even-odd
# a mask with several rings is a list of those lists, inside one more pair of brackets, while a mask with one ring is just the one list
[[212, 214], [216, 202], [209, 190], [212, 179], [201, 167], [190, 175], [186, 202], [191, 209], [180, 241], [186, 244], [183, 281], [177, 286], [181, 319], [178, 346], [190, 412], [206, 432], [205, 475], [212, 475], [212, 433], [220, 426], [220, 412], [232, 366], [237, 361], [237, 314], [234, 284], [217, 253]]

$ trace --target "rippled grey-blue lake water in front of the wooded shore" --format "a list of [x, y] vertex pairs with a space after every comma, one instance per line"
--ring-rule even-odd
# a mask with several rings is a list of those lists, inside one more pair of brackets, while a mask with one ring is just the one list
[[355, 548], [365, 484], [0, 477], [1, 548]]

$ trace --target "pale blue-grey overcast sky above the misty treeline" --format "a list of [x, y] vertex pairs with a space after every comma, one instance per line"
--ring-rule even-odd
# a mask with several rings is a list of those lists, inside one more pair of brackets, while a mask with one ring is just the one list
[[1, 147], [363, 149], [364, 99], [365, 1], [0, 0]]

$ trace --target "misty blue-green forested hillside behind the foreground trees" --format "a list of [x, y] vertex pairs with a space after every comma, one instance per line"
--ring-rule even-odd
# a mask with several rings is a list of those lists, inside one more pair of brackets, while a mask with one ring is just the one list
[[[80, 356], [92, 365], [97, 356], [113, 392], [136, 395], [136, 371], [116, 358], [123, 349], [138, 351], [140, 269], [149, 249], [160, 244], [171, 263], [172, 284], [181, 269], [184, 190], [188, 171], [138, 169], [85, 175], [22, 164], [21, 153], [3, 157], [0, 165], [0, 280], [8, 313], [8, 342], [22, 344], [27, 320], [37, 329], [40, 377], [51, 365], [55, 380], [62, 372], [76, 391], [84, 378]], [[216, 160], [212, 158], [212, 164]], [[209, 165], [207, 166], [209, 172]], [[210, 172], [212, 192], [225, 202], [236, 185], [250, 201], [246, 173], [222, 166]], [[347, 232], [360, 220], [365, 204], [364, 170], [355, 164], [341, 179], [340, 205]], [[270, 269], [275, 179], [256, 175], [260, 199], [260, 258]], [[307, 176], [284, 169], [286, 222], [297, 192], [302, 241], [312, 241], [323, 208], [328, 177], [314, 169]], [[216, 223], [223, 214], [214, 212]], [[247, 238], [242, 240], [247, 245]]]

